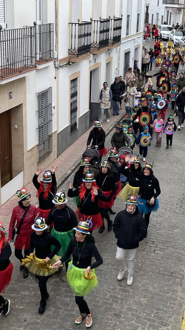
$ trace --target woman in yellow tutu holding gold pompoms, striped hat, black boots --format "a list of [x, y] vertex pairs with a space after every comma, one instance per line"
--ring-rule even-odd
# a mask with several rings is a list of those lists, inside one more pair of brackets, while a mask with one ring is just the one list
[[[41, 294], [40, 307], [38, 309], [39, 314], [45, 312], [46, 299], [49, 298], [46, 283], [48, 279], [58, 271], [58, 269], [52, 269], [51, 266], [49, 270], [46, 270], [46, 268], [48, 264], [53, 265], [60, 259], [60, 256], [57, 256], [56, 254], [61, 248], [61, 244], [55, 237], [45, 231], [47, 227], [48, 226], [45, 224], [45, 219], [43, 217], [35, 218], [35, 223], [32, 225], [32, 229], [34, 229], [35, 232], [30, 236], [30, 256], [33, 256], [34, 259], [25, 264], [29, 272], [34, 274], [35, 278], [38, 279], [38, 286]], [[52, 245], [55, 246], [53, 252], [51, 251]], [[37, 267], [40, 262], [43, 262], [43, 260], [45, 261], [44, 265]]]

